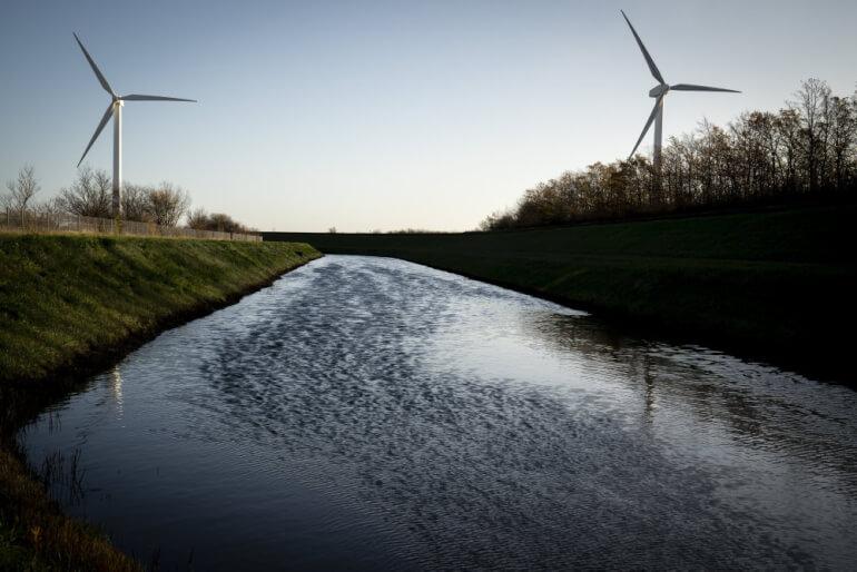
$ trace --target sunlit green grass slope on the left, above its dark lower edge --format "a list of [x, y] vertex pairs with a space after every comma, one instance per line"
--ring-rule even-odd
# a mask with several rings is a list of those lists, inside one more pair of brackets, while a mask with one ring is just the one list
[[308, 245], [0, 236], [0, 384], [86, 365], [315, 256]]

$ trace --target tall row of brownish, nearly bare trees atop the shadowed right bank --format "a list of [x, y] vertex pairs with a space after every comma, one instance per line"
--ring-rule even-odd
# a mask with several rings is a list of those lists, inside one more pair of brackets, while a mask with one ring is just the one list
[[703, 120], [671, 137], [658, 177], [648, 157], [567, 171], [482, 221], [499, 230], [826, 195], [857, 188], [857, 91], [801, 83], [778, 112], [745, 112], [726, 128]]

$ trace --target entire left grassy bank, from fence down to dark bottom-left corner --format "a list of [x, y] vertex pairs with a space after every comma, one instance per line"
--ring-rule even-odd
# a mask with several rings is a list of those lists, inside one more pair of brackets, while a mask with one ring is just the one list
[[0, 569], [138, 568], [49, 501], [14, 430], [164, 328], [318, 256], [305, 244], [0, 235]]

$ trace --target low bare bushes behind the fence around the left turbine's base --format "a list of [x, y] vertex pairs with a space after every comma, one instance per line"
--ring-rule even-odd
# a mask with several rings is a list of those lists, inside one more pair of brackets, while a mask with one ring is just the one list
[[[49, 199], [39, 201], [41, 190], [32, 166], [24, 166], [16, 179], [9, 180], [4, 194], [0, 194], [0, 208], [14, 215], [19, 225], [28, 218], [69, 214], [83, 217], [112, 217], [112, 181], [105, 170], [88, 166], [78, 169], [75, 181], [62, 187]], [[122, 186], [122, 219], [154, 223], [177, 227], [186, 217], [186, 225], [196, 230], [249, 233], [248, 228], [226, 214], [206, 214], [203, 209], [190, 211], [190, 196], [180, 187], [164, 181], [155, 186], [125, 183]], [[7, 216], [8, 218], [8, 216]]]

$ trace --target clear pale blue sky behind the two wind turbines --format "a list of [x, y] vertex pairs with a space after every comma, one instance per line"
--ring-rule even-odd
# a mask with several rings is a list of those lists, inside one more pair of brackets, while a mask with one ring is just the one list
[[[801, 80], [857, 87], [857, 2], [14, 1], [0, 9], [0, 180], [56, 195], [109, 103], [128, 102], [124, 178], [186, 189], [260, 230], [475, 228], [526, 188], [625, 157], [656, 81], [664, 137], [777, 110]], [[105, 129], [86, 162], [110, 171]], [[650, 151], [650, 136], [641, 150]]]

